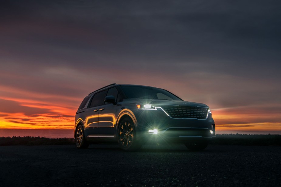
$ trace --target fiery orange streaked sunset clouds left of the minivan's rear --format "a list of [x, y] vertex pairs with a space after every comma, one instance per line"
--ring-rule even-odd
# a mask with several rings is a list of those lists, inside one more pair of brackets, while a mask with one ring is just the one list
[[[73, 128], [80, 98], [39, 94], [11, 87], [0, 88], [5, 89], [0, 94], [0, 129]], [[18, 97], [9, 96], [15, 93], [21, 94], [17, 94]]]

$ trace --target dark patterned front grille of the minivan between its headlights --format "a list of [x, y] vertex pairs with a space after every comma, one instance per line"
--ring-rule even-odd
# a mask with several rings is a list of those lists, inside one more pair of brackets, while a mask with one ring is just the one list
[[208, 108], [184, 107], [184, 106], [162, 106], [162, 108], [173, 118], [196, 118], [206, 119]]

